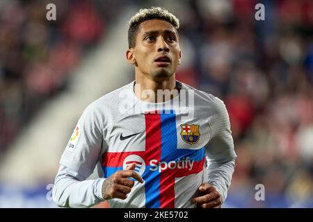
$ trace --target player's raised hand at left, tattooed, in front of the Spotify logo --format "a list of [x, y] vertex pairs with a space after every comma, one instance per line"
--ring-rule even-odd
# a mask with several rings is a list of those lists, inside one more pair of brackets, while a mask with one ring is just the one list
[[143, 183], [143, 178], [141, 178], [141, 176], [134, 171], [135, 168], [136, 164], [132, 163], [127, 167], [127, 169], [117, 171], [104, 180], [102, 185], [103, 198], [105, 200], [112, 198], [125, 200], [127, 198], [127, 194], [129, 194], [131, 188], [134, 187], [135, 184], [134, 180], [129, 180], [127, 178], [134, 178]]

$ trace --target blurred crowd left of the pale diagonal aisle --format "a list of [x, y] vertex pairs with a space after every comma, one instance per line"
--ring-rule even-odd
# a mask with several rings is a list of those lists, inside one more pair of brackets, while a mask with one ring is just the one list
[[[56, 6], [56, 21], [46, 18], [48, 3]], [[122, 3], [1, 1], [0, 154], [45, 101], [66, 89], [84, 53], [106, 36]]]

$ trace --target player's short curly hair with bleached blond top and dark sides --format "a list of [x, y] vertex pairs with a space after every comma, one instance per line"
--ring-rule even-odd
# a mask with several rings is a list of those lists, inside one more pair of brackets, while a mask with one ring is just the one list
[[168, 12], [168, 10], [154, 7], [151, 8], [144, 8], [139, 10], [131, 19], [129, 20], [128, 24], [128, 47], [129, 49], [133, 48], [136, 45], [136, 34], [138, 32], [138, 27], [141, 23], [151, 20], [151, 19], [161, 19], [164, 20], [177, 30], [179, 28], [179, 20], [175, 15]]

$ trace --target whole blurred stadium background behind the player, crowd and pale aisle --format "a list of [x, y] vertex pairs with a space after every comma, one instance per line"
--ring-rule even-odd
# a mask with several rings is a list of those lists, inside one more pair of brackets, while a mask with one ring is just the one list
[[0, 207], [56, 207], [58, 161], [83, 109], [134, 79], [127, 21], [146, 6], [182, 23], [177, 79], [227, 106], [238, 159], [224, 207], [313, 207], [310, 0], [1, 0]]

